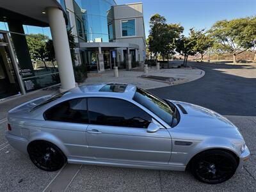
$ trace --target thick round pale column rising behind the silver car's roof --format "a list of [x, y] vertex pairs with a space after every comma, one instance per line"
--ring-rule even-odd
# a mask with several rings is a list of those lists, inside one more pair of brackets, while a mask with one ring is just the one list
[[76, 87], [66, 24], [63, 12], [60, 9], [49, 7], [46, 9], [46, 12], [51, 28], [56, 61], [60, 72], [60, 92], [65, 92], [66, 90]]

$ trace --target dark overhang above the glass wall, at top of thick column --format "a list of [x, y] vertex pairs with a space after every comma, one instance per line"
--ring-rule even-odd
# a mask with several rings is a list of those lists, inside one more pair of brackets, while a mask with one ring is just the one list
[[[9, 22], [12, 20], [12, 22], [17, 21], [25, 25], [47, 27], [49, 26], [49, 19], [47, 14], [45, 14], [45, 8], [47, 7], [59, 8], [64, 11], [60, 4], [60, 0], [0, 1], [0, 21]], [[64, 16], [67, 17], [66, 15]]]

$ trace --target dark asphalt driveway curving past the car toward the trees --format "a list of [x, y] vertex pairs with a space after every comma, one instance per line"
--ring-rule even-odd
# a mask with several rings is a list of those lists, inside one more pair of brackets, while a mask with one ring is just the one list
[[[195, 62], [189, 65], [204, 70], [205, 76], [190, 83], [149, 91], [161, 98], [198, 104], [221, 115], [256, 116], [256, 65]], [[250, 72], [246, 74], [244, 70]]]

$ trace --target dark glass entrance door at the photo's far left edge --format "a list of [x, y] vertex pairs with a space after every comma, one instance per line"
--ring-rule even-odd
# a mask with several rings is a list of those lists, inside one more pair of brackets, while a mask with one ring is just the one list
[[0, 33], [0, 99], [20, 93], [19, 82], [4, 34]]

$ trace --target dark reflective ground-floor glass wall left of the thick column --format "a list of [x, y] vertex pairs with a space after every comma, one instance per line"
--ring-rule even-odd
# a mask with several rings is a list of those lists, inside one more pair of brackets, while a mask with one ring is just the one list
[[[31, 92], [60, 83], [58, 65], [47, 55], [51, 42], [49, 27], [0, 22], [0, 99], [19, 95], [20, 83]], [[52, 45], [52, 44], [51, 44]], [[16, 72], [15, 72], [16, 70]], [[18, 81], [17, 73], [21, 81]]]

